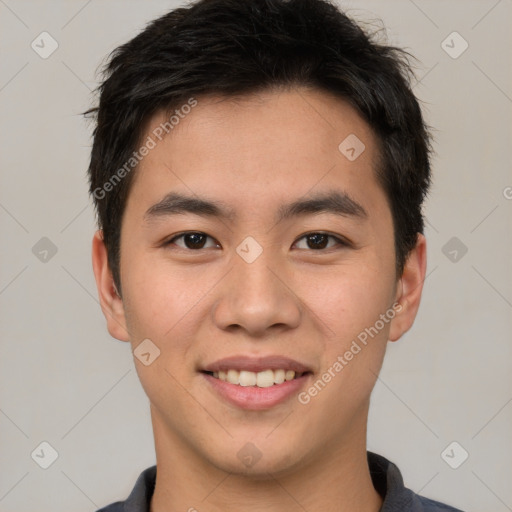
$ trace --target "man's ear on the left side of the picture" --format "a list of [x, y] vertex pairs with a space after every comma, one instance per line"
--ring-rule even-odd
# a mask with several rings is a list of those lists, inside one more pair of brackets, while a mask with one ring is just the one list
[[98, 230], [92, 239], [92, 267], [103, 314], [107, 320], [110, 335], [120, 341], [130, 341], [123, 300], [117, 294], [103, 241], [103, 231]]

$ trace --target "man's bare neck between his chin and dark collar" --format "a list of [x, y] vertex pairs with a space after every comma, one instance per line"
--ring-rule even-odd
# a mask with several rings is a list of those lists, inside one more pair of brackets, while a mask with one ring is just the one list
[[382, 498], [373, 487], [366, 454], [364, 424], [357, 437], [314, 461], [286, 473], [258, 478], [228, 473], [205, 461], [165, 430], [152, 409], [157, 478], [150, 512], [379, 512]]

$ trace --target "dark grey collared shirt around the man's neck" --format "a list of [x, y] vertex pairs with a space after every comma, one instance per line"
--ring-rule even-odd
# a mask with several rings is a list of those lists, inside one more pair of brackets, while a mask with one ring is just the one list
[[[404, 487], [400, 470], [388, 459], [367, 452], [373, 485], [384, 500], [380, 512], [462, 512]], [[126, 501], [117, 501], [97, 512], [149, 512], [155, 490], [156, 466], [145, 469]]]

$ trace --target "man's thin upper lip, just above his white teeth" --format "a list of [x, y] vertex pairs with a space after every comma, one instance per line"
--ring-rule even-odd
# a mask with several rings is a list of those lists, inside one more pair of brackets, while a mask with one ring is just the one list
[[249, 372], [261, 372], [263, 370], [293, 370], [295, 373], [311, 372], [306, 365], [285, 356], [231, 356], [218, 359], [214, 363], [203, 368], [205, 372], [219, 372], [227, 370], [245, 370]]

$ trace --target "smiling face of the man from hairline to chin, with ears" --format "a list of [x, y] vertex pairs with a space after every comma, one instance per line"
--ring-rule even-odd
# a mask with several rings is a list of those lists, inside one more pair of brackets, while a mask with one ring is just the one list
[[425, 271], [420, 237], [395, 274], [370, 128], [311, 90], [197, 98], [159, 141], [165, 121], [126, 204], [122, 300], [93, 249], [110, 333], [150, 340], [134, 361], [157, 456], [284, 475], [350, 452]]

